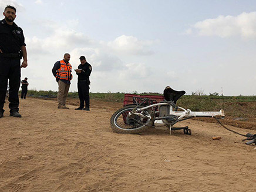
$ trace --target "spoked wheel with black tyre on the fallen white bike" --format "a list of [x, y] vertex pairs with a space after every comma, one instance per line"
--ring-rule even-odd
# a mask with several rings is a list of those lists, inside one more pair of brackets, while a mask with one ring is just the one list
[[[113, 132], [133, 134], [142, 133], [149, 127], [147, 124], [149, 124], [150, 118], [143, 118], [135, 114], [132, 117], [127, 116], [134, 107], [136, 107], [136, 105], [125, 106], [114, 112], [110, 119], [110, 126]], [[143, 110], [140, 113], [150, 116], [148, 110]]]

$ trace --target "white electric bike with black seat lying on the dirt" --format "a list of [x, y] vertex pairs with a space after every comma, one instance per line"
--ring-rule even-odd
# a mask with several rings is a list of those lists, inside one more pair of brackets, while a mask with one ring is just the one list
[[[186, 127], [174, 127], [174, 124], [193, 117], [214, 117], [218, 123], [225, 127], [218, 119], [224, 118], [224, 110], [219, 112], [192, 112], [190, 109], [176, 106], [177, 100], [186, 92], [184, 90], [177, 91], [167, 86], [164, 89], [164, 100], [156, 103], [151, 99], [133, 97], [134, 105], [124, 106], [122, 109], [114, 112], [110, 119], [110, 126], [116, 133], [142, 133], [148, 127], [168, 127], [170, 134], [173, 130], [183, 130], [184, 134], [191, 135], [191, 129]], [[233, 130], [230, 130], [233, 133]], [[237, 133], [240, 134], [240, 133]], [[245, 140], [250, 140], [246, 144], [256, 144], [256, 134], [247, 133]]]

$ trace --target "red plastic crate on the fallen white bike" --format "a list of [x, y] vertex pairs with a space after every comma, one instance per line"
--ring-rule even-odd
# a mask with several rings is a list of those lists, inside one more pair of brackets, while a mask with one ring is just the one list
[[[138, 103], [140, 103], [143, 98], [148, 98], [153, 100], [154, 103], [159, 103], [164, 100], [164, 96], [161, 95], [136, 95], [136, 94], [124, 94], [123, 106], [136, 104], [134, 103], [133, 97], [136, 97]], [[142, 98], [142, 99], [140, 99]]]

